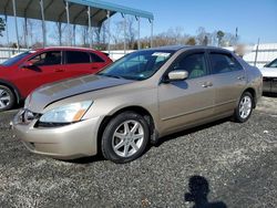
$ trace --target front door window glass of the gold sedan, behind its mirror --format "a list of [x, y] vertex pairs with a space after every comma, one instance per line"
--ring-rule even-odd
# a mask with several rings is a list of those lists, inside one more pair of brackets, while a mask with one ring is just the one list
[[188, 79], [195, 79], [208, 74], [204, 53], [195, 53], [181, 58], [173, 64], [173, 70], [187, 71]]

